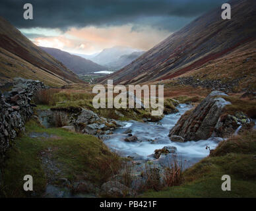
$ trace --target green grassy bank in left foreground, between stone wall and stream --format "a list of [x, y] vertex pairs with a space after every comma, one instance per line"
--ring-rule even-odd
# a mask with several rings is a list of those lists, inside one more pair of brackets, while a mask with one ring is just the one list
[[[28, 134], [32, 132], [48, 133], [53, 137], [30, 138]], [[71, 133], [65, 129], [45, 129], [34, 121], [29, 121], [26, 124], [26, 133], [16, 139], [16, 145], [7, 154], [5, 165], [1, 166], [3, 196], [31, 196], [22, 189], [23, 177], [27, 174], [33, 177], [33, 193], [36, 193], [33, 196], [44, 193], [49, 178], [46, 177], [45, 166], [42, 165], [42, 153], [50, 153], [53, 163], [61, 169], [57, 176], [52, 172], [48, 177], [65, 177], [71, 183], [85, 179], [101, 185], [116, 173], [120, 164], [119, 156], [110, 152], [94, 136]]]

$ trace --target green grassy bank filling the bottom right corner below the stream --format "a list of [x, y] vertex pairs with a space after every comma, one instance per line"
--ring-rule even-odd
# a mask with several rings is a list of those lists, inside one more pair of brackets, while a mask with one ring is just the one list
[[[148, 191], [143, 197], [256, 197], [256, 131], [221, 142], [210, 156], [183, 173], [180, 186]], [[222, 191], [222, 175], [230, 175], [231, 191]]]

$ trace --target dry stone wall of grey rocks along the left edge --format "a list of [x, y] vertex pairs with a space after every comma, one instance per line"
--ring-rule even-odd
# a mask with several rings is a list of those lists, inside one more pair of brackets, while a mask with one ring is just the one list
[[15, 78], [10, 92], [0, 92], [0, 161], [33, 113], [32, 96], [45, 88], [38, 80]]

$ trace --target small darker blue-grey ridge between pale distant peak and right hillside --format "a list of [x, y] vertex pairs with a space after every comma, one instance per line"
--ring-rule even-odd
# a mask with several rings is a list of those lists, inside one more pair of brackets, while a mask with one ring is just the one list
[[145, 51], [135, 51], [130, 54], [121, 55], [116, 61], [106, 64], [106, 67], [111, 69], [119, 70], [126, 65], [129, 65], [133, 60], [137, 59], [139, 56], [143, 55]]

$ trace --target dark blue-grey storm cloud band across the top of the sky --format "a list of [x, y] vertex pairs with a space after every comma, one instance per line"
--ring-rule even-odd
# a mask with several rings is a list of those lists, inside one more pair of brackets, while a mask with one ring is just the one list
[[[1, 0], [0, 15], [18, 28], [115, 26], [127, 23], [175, 30], [223, 0]], [[23, 5], [32, 3], [34, 20], [24, 20]], [[156, 17], [152, 21], [152, 17]], [[157, 19], [158, 18], [158, 19]], [[157, 21], [164, 20], [164, 21]], [[136, 26], [137, 22], [137, 26]]]

